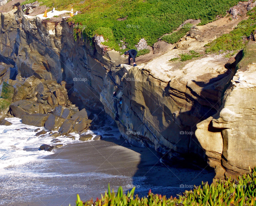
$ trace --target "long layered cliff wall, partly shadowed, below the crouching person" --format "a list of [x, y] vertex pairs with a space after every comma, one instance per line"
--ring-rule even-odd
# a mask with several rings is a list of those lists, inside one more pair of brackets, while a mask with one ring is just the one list
[[[118, 52], [104, 52], [97, 43], [83, 38], [75, 42], [73, 25], [65, 19], [42, 21], [12, 10], [1, 14], [0, 23], [0, 59], [15, 66], [23, 77], [66, 81], [74, 103], [80, 99], [88, 108], [104, 109], [116, 119], [124, 138], [132, 144], [154, 147], [163, 159], [205, 161], [208, 156], [211, 166], [217, 161], [220, 168], [226, 167], [220, 163], [222, 127], [217, 132], [218, 144], [208, 140], [209, 136], [196, 138], [195, 130], [198, 122], [211, 118], [221, 107], [223, 90], [235, 74], [224, 66], [228, 59], [209, 55], [181, 65], [168, 61], [193, 49], [199, 43], [198, 36], [189, 35], [175, 51], [130, 67], [123, 64], [126, 61]], [[203, 39], [200, 44], [205, 44]], [[114, 106], [113, 92], [118, 100], [122, 97], [118, 107]], [[215, 144], [216, 149], [207, 148]]]

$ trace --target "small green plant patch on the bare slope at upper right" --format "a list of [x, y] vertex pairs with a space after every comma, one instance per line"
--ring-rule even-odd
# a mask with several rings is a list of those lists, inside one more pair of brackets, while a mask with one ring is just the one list
[[223, 34], [213, 42], [206, 44], [206, 53], [223, 53], [226, 51], [239, 51], [243, 49], [248, 42], [248, 38], [256, 29], [255, 8], [249, 11], [247, 15], [249, 15], [249, 18], [241, 21], [229, 34]]

